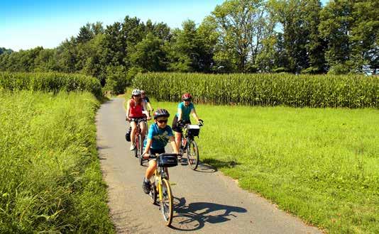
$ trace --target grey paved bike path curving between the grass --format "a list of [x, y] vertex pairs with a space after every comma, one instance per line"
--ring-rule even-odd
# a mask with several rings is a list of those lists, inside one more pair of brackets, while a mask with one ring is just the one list
[[[123, 99], [102, 104], [96, 121], [101, 170], [117, 233], [321, 233], [243, 191], [216, 169], [200, 164], [194, 172], [185, 163], [169, 169], [175, 199], [172, 228], [168, 228], [158, 206], [150, 204], [141, 189], [146, 167], [138, 165], [126, 143]], [[199, 150], [201, 158], [201, 145]]]

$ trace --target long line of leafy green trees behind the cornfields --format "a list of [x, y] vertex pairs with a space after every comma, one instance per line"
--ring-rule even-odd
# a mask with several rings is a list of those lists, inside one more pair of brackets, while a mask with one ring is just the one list
[[377, 74], [379, 1], [228, 0], [182, 28], [126, 16], [57, 48], [1, 48], [0, 70], [80, 72], [122, 92], [138, 72]]

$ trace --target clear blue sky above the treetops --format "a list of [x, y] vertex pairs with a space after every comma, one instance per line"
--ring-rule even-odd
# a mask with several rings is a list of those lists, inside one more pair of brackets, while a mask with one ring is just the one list
[[[327, 1], [323, 0], [322, 2]], [[143, 22], [167, 23], [180, 28], [191, 19], [201, 23], [224, 0], [66, 0], [1, 1], [0, 47], [27, 50], [37, 46], [55, 48], [66, 38], [77, 35], [86, 23], [103, 26], [136, 16]]]

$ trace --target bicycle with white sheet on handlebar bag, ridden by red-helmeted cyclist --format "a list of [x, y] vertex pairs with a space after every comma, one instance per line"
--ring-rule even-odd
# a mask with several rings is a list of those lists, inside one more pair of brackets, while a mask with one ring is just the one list
[[180, 154], [187, 155], [187, 162], [191, 169], [197, 169], [199, 165], [199, 148], [194, 140], [194, 137], [199, 137], [200, 127], [203, 126], [203, 122], [199, 122], [196, 125], [191, 125], [189, 123], [180, 123], [182, 128], [182, 138], [180, 140]]

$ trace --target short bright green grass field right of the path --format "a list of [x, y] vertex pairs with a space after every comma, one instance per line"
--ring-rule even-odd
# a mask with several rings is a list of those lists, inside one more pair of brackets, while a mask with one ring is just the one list
[[329, 233], [379, 233], [378, 110], [195, 106], [203, 162]]

